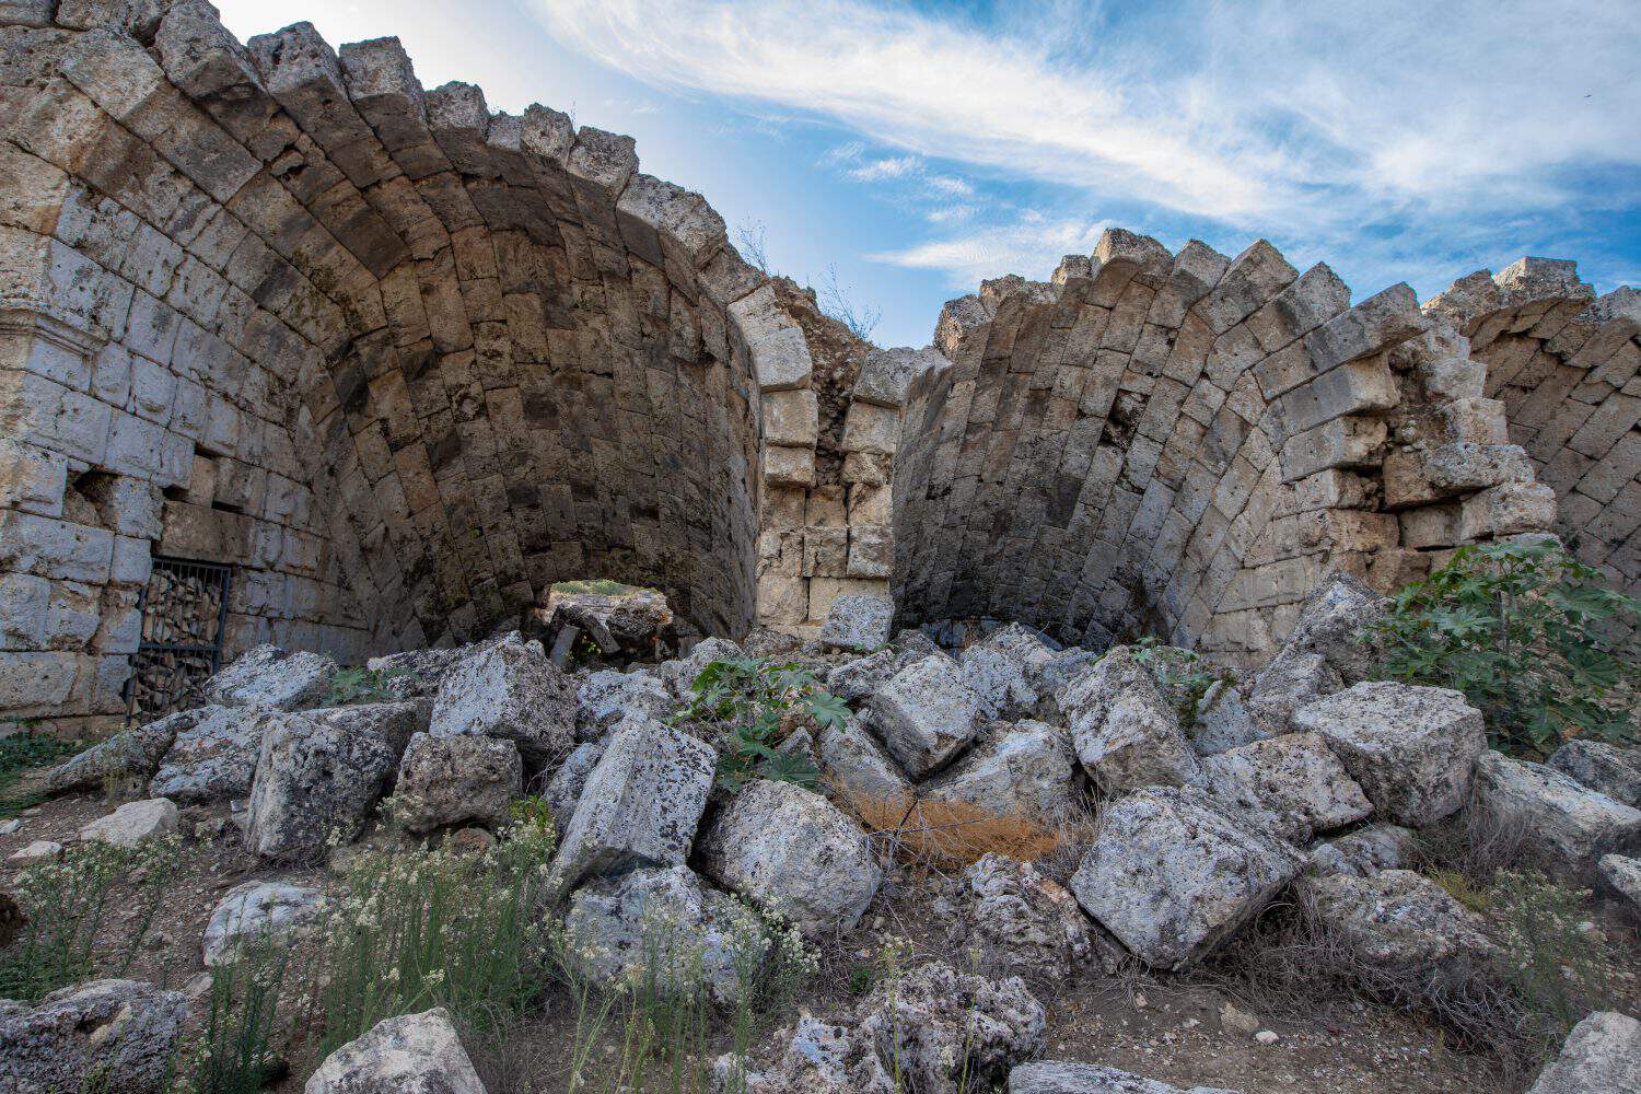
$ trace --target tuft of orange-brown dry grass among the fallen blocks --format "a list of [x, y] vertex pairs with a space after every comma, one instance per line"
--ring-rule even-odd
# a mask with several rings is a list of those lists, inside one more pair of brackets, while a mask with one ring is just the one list
[[1032, 863], [1060, 846], [1058, 832], [1019, 814], [916, 795], [843, 797], [873, 843], [912, 866], [962, 869], [993, 851]]

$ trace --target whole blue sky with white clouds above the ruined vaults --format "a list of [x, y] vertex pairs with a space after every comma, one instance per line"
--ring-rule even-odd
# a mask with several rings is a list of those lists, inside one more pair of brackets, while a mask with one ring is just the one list
[[1421, 299], [1523, 254], [1641, 285], [1641, 7], [217, 0], [241, 38], [397, 34], [428, 87], [630, 133], [775, 271], [924, 344], [1101, 228], [1255, 238]]

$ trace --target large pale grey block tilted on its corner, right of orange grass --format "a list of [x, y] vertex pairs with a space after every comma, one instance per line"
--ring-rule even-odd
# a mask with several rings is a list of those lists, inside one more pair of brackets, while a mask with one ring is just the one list
[[1106, 807], [1072, 892], [1142, 961], [1185, 969], [1303, 864], [1291, 846], [1198, 792], [1147, 787]]

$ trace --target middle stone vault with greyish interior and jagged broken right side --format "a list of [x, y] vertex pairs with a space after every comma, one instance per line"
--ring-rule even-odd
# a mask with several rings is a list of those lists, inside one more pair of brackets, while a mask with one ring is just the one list
[[[1052, 284], [950, 302], [935, 341], [952, 367], [917, 390], [896, 466], [906, 622], [1160, 633], [1252, 661], [1331, 569], [1392, 589], [1428, 548], [1554, 517], [1464, 338], [1406, 285], [1352, 307], [1326, 266], [1300, 274], [1264, 241], [1175, 256], [1108, 231]], [[1415, 435], [1454, 477], [1398, 495], [1388, 461]]]

